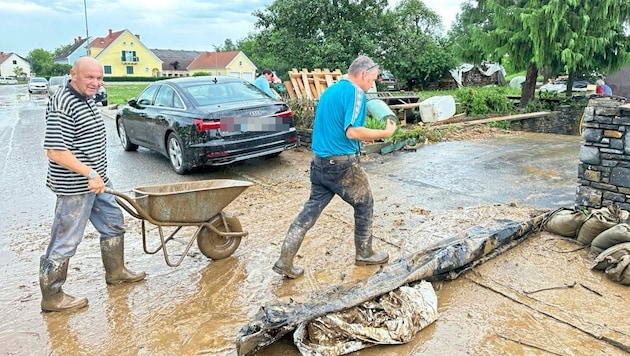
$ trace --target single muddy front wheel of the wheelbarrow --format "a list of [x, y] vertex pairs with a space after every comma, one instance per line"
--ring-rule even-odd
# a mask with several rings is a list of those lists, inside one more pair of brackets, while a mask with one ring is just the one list
[[[225, 217], [230, 232], [242, 232], [241, 222], [236, 217]], [[218, 219], [212, 226], [219, 231], [226, 231], [223, 221]], [[222, 237], [207, 227], [203, 227], [197, 236], [197, 246], [204, 256], [213, 260], [227, 258], [236, 251], [241, 244], [240, 237]]]

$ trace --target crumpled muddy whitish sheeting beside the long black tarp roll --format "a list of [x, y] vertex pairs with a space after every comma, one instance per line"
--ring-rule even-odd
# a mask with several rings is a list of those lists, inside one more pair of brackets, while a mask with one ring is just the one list
[[403, 344], [438, 318], [430, 282], [401, 286], [376, 300], [298, 325], [302, 355], [337, 356], [379, 344]]

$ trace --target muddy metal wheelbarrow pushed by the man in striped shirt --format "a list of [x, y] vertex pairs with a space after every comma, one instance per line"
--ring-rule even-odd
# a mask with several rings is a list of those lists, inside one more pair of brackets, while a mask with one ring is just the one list
[[[247, 236], [238, 218], [223, 212], [251, 182], [232, 179], [210, 179], [162, 185], [149, 185], [133, 189], [134, 197], [107, 188], [106, 193], [115, 195], [116, 202], [131, 216], [142, 220], [142, 248], [147, 254], [162, 250], [166, 264], [177, 267], [190, 250], [193, 242], [201, 253], [213, 260], [229, 257], [236, 251], [241, 238]], [[149, 249], [146, 222], [157, 227], [160, 245]], [[181, 257], [173, 262], [167, 251], [183, 227], [196, 227]], [[163, 227], [175, 227], [164, 236]]]

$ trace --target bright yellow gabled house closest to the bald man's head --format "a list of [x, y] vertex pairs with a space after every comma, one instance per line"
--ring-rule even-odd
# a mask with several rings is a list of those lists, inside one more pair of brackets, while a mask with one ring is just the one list
[[162, 61], [129, 30], [97, 37], [90, 43], [90, 56], [103, 65], [105, 77], [157, 77]]

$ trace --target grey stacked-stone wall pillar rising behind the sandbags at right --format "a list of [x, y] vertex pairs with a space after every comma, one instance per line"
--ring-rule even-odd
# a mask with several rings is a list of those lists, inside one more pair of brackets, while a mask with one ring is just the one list
[[630, 210], [630, 105], [592, 99], [582, 126], [576, 207]]

